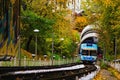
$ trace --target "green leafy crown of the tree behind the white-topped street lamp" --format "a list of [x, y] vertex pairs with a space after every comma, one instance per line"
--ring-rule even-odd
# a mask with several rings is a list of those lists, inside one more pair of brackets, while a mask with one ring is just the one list
[[22, 29], [23, 31], [30, 31], [31, 35], [33, 34], [34, 29], [39, 29], [40, 34], [46, 34], [47, 31], [52, 29], [51, 25], [54, 23], [53, 20], [42, 18], [30, 10], [24, 11], [22, 15]]

